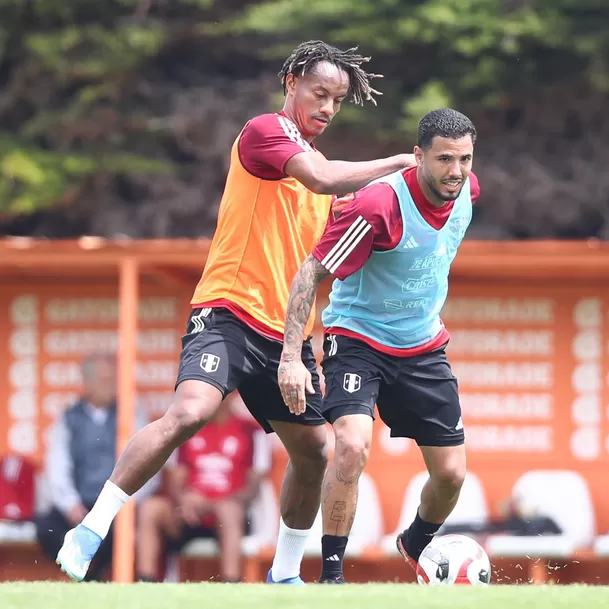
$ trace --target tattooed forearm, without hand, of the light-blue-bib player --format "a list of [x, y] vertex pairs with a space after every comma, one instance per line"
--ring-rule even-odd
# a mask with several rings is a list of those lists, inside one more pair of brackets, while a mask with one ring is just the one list
[[283, 339], [283, 351], [288, 358], [300, 358], [305, 326], [311, 315], [319, 284], [329, 275], [317, 258], [309, 256], [292, 281]]

